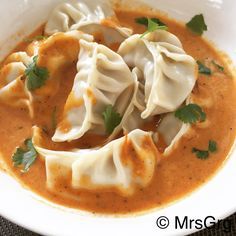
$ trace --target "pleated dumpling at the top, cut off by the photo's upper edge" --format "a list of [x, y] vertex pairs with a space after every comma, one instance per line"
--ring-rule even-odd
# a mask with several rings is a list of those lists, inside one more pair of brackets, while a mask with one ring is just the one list
[[45, 28], [48, 35], [80, 30], [96, 36], [101, 34], [106, 45], [122, 42], [132, 30], [121, 27], [110, 4], [104, 1], [70, 1], [58, 5]]

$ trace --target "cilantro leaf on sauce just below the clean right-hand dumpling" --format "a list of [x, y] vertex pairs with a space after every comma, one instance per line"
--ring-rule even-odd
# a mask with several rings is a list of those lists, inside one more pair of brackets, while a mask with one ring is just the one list
[[179, 108], [175, 112], [175, 117], [184, 123], [194, 124], [197, 121], [203, 122], [206, 120], [206, 113], [197, 104], [191, 103]]

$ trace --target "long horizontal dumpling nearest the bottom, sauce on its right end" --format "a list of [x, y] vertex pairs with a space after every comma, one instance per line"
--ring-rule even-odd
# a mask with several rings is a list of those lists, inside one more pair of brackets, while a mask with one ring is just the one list
[[67, 183], [74, 189], [110, 189], [131, 195], [152, 180], [160, 160], [150, 132], [134, 130], [98, 149], [51, 151], [40, 147], [39, 129], [34, 146], [45, 158], [47, 186]]

